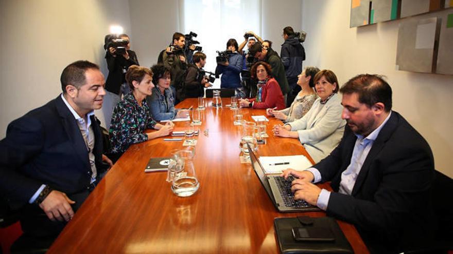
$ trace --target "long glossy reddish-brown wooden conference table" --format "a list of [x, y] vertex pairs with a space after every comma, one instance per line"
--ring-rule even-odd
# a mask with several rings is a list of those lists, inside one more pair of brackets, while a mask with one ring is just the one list
[[[192, 105], [197, 107], [197, 99], [187, 99], [178, 107]], [[206, 99], [194, 158], [200, 188], [193, 196], [173, 194], [167, 172], [144, 172], [151, 157], [168, 157], [171, 150], [183, 148], [182, 141], [159, 138], [132, 145], [48, 253], [278, 253], [274, 218], [326, 216], [323, 211], [278, 212], [251, 164], [240, 163], [242, 127], [233, 125], [232, 110], [210, 105], [211, 99]], [[242, 109], [242, 113], [252, 121], [252, 115], [263, 115], [265, 110]], [[304, 154], [312, 161], [297, 139], [275, 137], [272, 126], [281, 121], [269, 120], [269, 138], [267, 144], [258, 145], [258, 156]], [[321, 187], [330, 189], [328, 184]], [[367, 253], [356, 228], [338, 223], [354, 251]]]

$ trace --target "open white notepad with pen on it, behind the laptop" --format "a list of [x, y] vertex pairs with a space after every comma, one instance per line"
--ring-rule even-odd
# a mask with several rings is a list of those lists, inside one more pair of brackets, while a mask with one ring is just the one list
[[288, 168], [302, 171], [312, 166], [304, 155], [262, 156], [259, 157], [259, 162], [263, 165], [265, 174], [280, 174]]

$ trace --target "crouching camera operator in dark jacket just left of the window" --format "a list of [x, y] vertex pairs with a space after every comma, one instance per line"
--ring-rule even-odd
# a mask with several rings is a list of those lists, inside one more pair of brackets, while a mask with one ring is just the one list
[[212, 87], [209, 82], [214, 82], [215, 77], [205, 76], [203, 70], [206, 64], [206, 55], [203, 52], [195, 52], [192, 57], [194, 64], [189, 65], [184, 84], [184, 96], [186, 98], [197, 98], [204, 96], [204, 88]]

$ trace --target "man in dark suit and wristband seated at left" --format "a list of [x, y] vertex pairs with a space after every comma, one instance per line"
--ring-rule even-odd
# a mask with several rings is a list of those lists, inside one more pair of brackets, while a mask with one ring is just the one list
[[12, 209], [21, 208], [32, 244], [49, 245], [111, 165], [94, 116], [104, 85], [96, 64], [68, 65], [63, 93], [11, 122], [0, 141], [0, 190]]

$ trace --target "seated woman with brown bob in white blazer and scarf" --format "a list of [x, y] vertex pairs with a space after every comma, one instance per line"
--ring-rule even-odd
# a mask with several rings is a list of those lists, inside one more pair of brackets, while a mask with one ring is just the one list
[[331, 70], [315, 75], [315, 90], [319, 98], [303, 118], [284, 126], [276, 125], [277, 136], [299, 139], [316, 163], [329, 155], [340, 143], [346, 121], [341, 119], [343, 106], [338, 92], [338, 80]]

